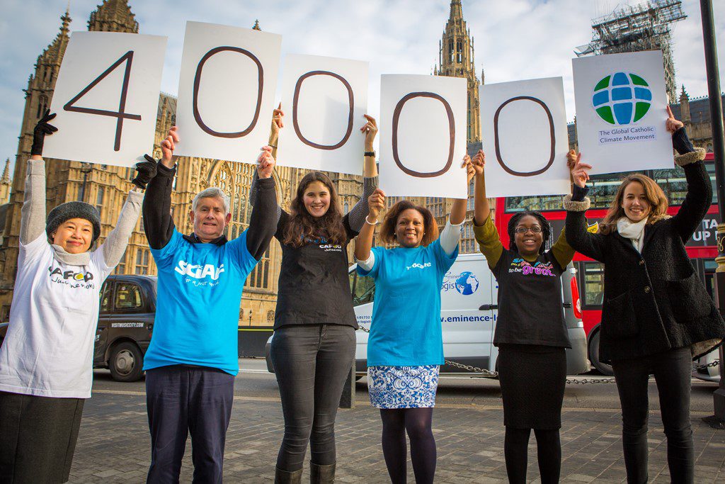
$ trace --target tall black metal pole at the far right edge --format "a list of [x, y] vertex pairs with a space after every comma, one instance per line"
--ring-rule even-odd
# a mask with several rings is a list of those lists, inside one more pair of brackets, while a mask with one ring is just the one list
[[[708, 77], [708, 96], [710, 98], [710, 120], [713, 131], [713, 155], [715, 157], [716, 192], [720, 218], [725, 221], [725, 136], [723, 133], [723, 107], [720, 93], [720, 74], [718, 53], [715, 41], [715, 22], [713, 21], [712, 0], [700, 0], [700, 15], [703, 19], [703, 44], [705, 44], [705, 72]], [[725, 313], [725, 223], [720, 223], [717, 231], [718, 268], [715, 273], [717, 303], [720, 313]], [[713, 393], [715, 414], [706, 417], [712, 427], [725, 428], [725, 368], [723, 349], [720, 348], [720, 385]]]

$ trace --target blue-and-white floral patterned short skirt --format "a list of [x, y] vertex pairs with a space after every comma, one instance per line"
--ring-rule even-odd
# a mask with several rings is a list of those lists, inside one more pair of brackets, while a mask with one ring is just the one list
[[436, 406], [438, 365], [368, 366], [368, 394], [377, 409]]

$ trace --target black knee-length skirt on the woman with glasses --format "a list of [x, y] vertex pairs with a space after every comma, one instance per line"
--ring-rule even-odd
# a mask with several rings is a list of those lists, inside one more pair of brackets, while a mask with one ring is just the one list
[[561, 428], [566, 387], [564, 348], [502, 344], [498, 366], [506, 427]]

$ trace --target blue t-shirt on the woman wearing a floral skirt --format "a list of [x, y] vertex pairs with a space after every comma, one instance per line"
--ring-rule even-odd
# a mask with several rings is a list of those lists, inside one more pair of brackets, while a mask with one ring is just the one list
[[374, 247], [375, 265], [362, 276], [375, 279], [368, 366], [443, 364], [441, 285], [458, 256], [436, 240], [428, 247]]

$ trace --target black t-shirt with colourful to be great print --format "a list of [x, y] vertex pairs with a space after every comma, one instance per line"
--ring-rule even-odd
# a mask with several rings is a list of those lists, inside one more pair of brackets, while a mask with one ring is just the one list
[[571, 348], [561, 298], [564, 270], [551, 250], [531, 263], [513, 250], [503, 250], [494, 267], [499, 283], [494, 345]]

